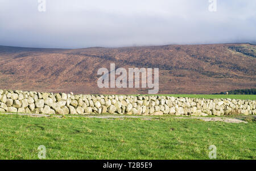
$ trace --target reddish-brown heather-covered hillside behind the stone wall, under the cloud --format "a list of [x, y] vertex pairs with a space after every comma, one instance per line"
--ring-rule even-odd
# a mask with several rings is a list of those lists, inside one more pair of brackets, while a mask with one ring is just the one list
[[100, 89], [101, 67], [158, 67], [159, 93], [216, 93], [256, 87], [256, 46], [166, 45], [37, 49], [0, 46], [0, 88], [74, 93], [147, 93]]

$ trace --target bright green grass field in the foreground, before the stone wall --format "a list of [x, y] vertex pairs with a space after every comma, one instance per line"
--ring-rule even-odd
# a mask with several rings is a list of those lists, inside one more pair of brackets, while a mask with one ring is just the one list
[[256, 159], [256, 122], [0, 114], [0, 159]]

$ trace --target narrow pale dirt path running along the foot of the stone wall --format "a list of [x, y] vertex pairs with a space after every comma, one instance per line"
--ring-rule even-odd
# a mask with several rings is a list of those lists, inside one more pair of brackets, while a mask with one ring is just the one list
[[[3, 113], [3, 114], [18, 114], [20, 116], [31, 116], [31, 117], [58, 117], [61, 118], [63, 116], [60, 115], [49, 115], [49, 114], [25, 114], [25, 113]], [[84, 117], [84, 118], [105, 118], [105, 119], [111, 119], [111, 118], [143, 118], [143, 119], [154, 119], [154, 118], [159, 118], [156, 116], [118, 116], [118, 115], [97, 115], [97, 116], [68, 116], [65, 115], [65, 117]], [[240, 118], [245, 118], [247, 116], [243, 116]], [[248, 116], [251, 117], [251, 116]], [[252, 116], [256, 117], [256, 116]], [[176, 119], [201, 119], [205, 122], [228, 122], [228, 123], [247, 123], [246, 121], [242, 121], [240, 118], [228, 118], [228, 117], [171, 117], [171, 118], [176, 118]]]

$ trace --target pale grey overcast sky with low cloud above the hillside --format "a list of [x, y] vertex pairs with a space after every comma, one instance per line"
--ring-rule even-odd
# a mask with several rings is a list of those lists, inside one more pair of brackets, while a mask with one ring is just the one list
[[0, 0], [0, 45], [40, 48], [256, 42], [256, 1]]

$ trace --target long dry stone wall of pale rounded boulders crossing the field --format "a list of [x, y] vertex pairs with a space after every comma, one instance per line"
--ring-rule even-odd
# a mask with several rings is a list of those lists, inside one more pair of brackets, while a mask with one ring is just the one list
[[223, 116], [256, 114], [255, 100], [171, 96], [73, 95], [0, 89], [0, 112]]

